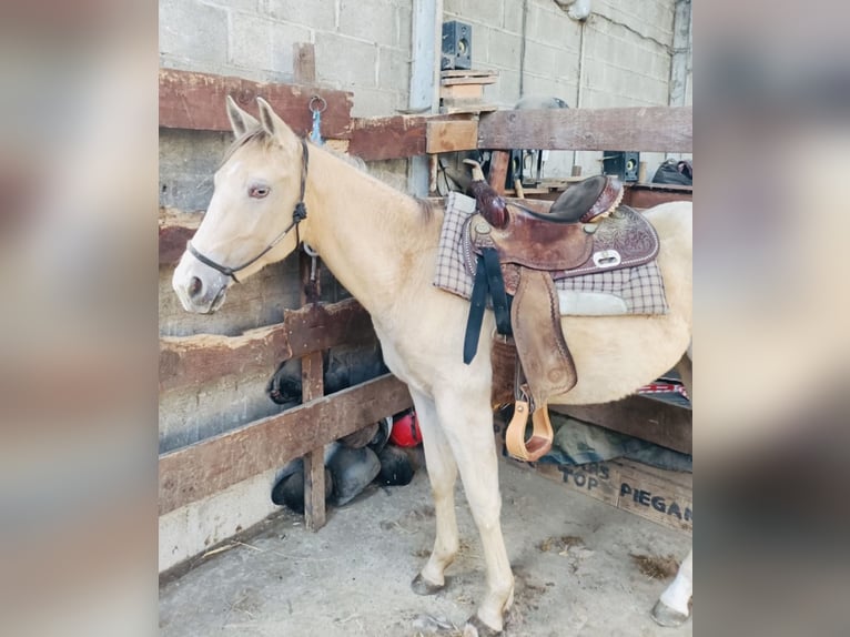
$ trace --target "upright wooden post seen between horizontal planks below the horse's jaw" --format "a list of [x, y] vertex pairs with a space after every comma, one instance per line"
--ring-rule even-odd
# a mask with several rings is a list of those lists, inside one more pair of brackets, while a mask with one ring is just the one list
[[[318, 257], [301, 253], [301, 302], [316, 303], [320, 297]], [[308, 403], [324, 395], [322, 352], [313, 352], [301, 358], [301, 397]], [[304, 456], [304, 522], [310, 530], [325, 525], [325, 449], [324, 446]]]

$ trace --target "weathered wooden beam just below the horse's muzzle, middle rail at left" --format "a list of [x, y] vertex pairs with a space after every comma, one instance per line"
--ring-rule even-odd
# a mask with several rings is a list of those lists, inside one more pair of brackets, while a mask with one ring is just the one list
[[372, 320], [354, 299], [284, 312], [277, 325], [240, 336], [196, 334], [160, 338], [160, 391], [202, 385], [229, 374], [267, 368], [327, 347], [375, 341]]

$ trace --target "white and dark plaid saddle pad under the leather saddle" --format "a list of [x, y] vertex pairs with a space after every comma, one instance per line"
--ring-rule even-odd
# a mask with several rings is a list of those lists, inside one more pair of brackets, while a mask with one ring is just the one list
[[[434, 285], [469, 299], [475, 272], [464, 256], [464, 222], [475, 214], [475, 200], [448, 193], [437, 250]], [[555, 281], [561, 315], [611, 316], [666, 314], [664, 280], [656, 260], [644, 265], [581, 274]]]

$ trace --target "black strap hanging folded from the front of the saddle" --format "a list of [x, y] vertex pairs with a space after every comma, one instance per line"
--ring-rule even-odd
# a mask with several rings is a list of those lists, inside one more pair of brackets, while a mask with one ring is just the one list
[[502, 277], [502, 267], [498, 254], [493, 247], [482, 250], [482, 256], [475, 269], [475, 282], [473, 294], [469, 299], [469, 316], [466, 320], [466, 334], [464, 336], [464, 363], [469, 364], [478, 352], [478, 338], [484, 323], [484, 310], [487, 306], [487, 296], [493, 300], [493, 312], [496, 315], [496, 331], [499, 334], [510, 336], [510, 301], [505, 293], [505, 280]]

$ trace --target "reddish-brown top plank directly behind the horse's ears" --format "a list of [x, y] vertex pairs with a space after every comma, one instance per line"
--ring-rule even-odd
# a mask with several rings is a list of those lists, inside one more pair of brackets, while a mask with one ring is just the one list
[[322, 134], [347, 139], [352, 132], [353, 94], [322, 87], [271, 84], [241, 78], [160, 69], [160, 127], [204, 131], [230, 131], [226, 95], [256, 114], [256, 98], [264, 98], [300, 135], [313, 123], [310, 100], [321, 95], [327, 102], [322, 113]]

